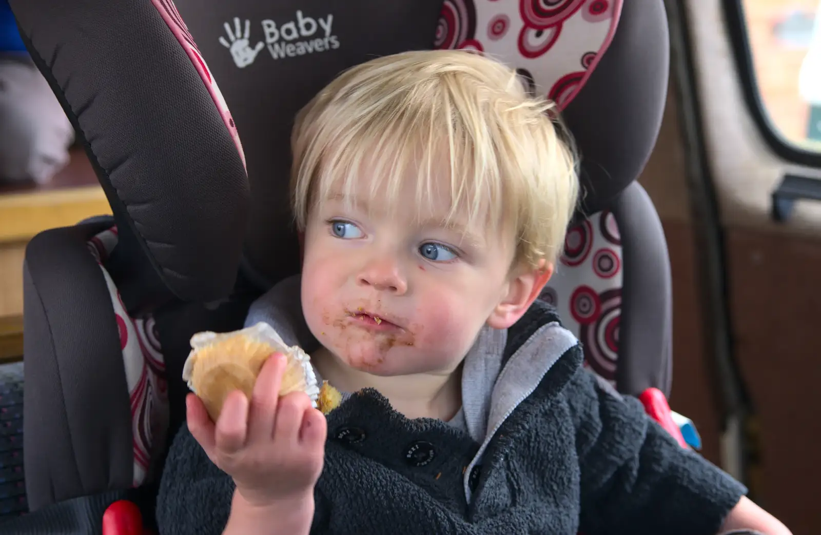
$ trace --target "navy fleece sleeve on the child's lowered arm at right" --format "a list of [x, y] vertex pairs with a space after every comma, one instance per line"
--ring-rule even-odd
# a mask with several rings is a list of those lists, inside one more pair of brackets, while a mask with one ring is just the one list
[[741, 483], [581, 370], [571, 382], [585, 535], [715, 535], [746, 494]]

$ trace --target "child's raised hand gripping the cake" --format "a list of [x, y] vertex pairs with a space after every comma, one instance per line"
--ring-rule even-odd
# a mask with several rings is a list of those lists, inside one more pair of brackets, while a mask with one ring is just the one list
[[188, 428], [209, 459], [234, 478], [253, 506], [309, 500], [322, 472], [327, 423], [310, 398], [294, 392], [279, 398], [285, 357], [274, 354], [262, 367], [251, 400], [229, 394], [214, 424], [200, 398], [186, 400]]

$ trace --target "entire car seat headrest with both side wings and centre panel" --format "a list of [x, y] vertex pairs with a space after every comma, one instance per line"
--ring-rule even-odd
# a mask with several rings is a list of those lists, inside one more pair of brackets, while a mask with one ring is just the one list
[[[479, 49], [515, 67], [564, 107], [582, 155], [580, 213], [606, 207], [639, 175], [667, 92], [662, 0], [11, 6], [85, 134], [118, 224], [134, 229], [163, 280], [191, 299], [225, 289], [243, 231], [244, 271], [258, 286], [299, 270], [288, 194], [291, 126], [297, 110], [347, 67], [433, 47]], [[214, 77], [232, 115], [221, 116], [219, 93], [209, 92]], [[241, 151], [222, 117], [232, 117], [242, 136], [250, 205]]]

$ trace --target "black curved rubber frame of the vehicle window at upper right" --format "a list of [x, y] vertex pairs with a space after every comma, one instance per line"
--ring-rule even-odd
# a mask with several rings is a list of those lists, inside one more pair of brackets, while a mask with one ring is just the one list
[[753, 65], [753, 53], [750, 48], [750, 36], [747, 32], [747, 19], [744, 11], [744, 0], [722, 0], [724, 22], [732, 43], [736, 69], [744, 94], [744, 100], [755, 125], [764, 137], [770, 149], [788, 162], [806, 167], [821, 167], [821, 152], [803, 149], [782, 135], [774, 124], [761, 98], [758, 77]]

